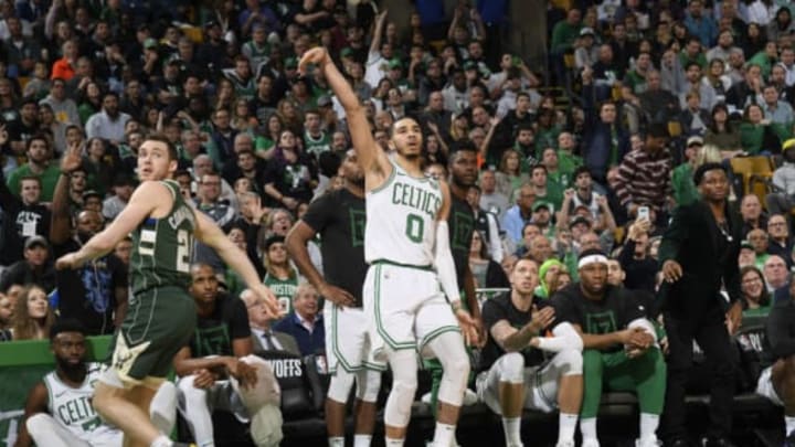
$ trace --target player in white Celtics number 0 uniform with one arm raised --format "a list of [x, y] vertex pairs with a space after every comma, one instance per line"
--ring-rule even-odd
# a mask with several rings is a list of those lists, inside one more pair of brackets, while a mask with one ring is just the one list
[[326, 50], [305, 53], [298, 70], [306, 73], [309, 64], [321, 71], [344, 107], [364, 171], [364, 259], [370, 264], [362, 294], [364, 312], [371, 318], [371, 345], [389, 361], [393, 375], [384, 409], [386, 446], [405, 441], [420, 351], [436, 356], [444, 369], [433, 446], [448, 447], [469, 375], [462, 332], [469, 342], [478, 337], [475, 321], [460, 307], [447, 227], [449, 189], [421, 170], [423, 140], [416, 120], [394, 123], [390, 159], [370, 134], [364, 107]]

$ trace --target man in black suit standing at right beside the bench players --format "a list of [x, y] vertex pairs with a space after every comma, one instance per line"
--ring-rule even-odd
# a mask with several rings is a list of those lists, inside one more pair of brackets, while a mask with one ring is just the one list
[[742, 318], [736, 259], [743, 222], [728, 206], [725, 168], [704, 163], [696, 170], [693, 181], [702, 199], [676, 210], [659, 248], [659, 262], [667, 283], [662, 310], [670, 347], [662, 429], [667, 446], [688, 445], [685, 384], [692, 364], [692, 341], [696, 340], [707, 363], [712, 365], [710, 427], [706, 445], [731, 447], [734, 446], [729, 436], [735, 364], [729, 337], [739, 328]]

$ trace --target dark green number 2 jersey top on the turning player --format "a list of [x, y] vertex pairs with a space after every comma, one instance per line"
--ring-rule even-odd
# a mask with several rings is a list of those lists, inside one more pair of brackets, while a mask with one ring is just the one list
[[130, 272], [132, 294], [155, 287], [188, 287], [195, 215], [172, 180], [161, 182], [171, 193], [171, 212], [148, 217], [132, 232]]

